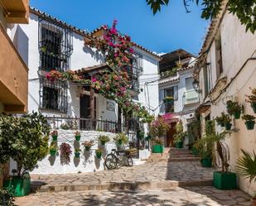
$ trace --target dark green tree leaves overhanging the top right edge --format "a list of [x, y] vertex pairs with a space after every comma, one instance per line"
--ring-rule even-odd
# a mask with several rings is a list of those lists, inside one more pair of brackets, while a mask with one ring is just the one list
[[[150, 5], [152, 12], [156, 14], [161, 11], [162, 6], [167, 6], [169, 0], [146, 0]], [[203, 7], [201, 18], [212, 19], [218, 15], [221, 10], [221, 4], [224, 0], [182, 0], [186, 12], [189, 10], [190, 2], [196, 2], [196, 5]], [[228, 0], [227, 10], [235, 14], [242, 25], [246, 26], [246, 31], [252, 33], [256, 30], [256, 0]]]

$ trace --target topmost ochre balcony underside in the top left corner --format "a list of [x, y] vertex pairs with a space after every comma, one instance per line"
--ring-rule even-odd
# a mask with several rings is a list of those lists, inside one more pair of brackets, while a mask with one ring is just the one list
[[0, 5], [6, 13], [7, 23], [28, 23], [29, 3], [28, 0], [0, 0]]

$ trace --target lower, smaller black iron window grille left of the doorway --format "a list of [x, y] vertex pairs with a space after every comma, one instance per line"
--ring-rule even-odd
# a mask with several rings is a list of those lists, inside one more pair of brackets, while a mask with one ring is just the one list
[[67, 112], [67, 82], [60, 80], [40, 79], [40, 108]]

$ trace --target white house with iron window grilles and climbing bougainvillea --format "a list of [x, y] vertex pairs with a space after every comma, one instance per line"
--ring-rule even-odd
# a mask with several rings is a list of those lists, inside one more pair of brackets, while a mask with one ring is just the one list
[[[85, 46], [84, 39], [89, 33], [33, 8], [30, 10], [29, 22], [28, 25], [13, 25], [11, 29], [17, 50], [29, 68], [28, 112], [40, 111], [48, 118], [51, 117], [52, 126], [56, 128], [61, 128], [65, 122], [70, 128], [75, 126], [81, 131], [95, 131], [94, 134], [82, 133], [81, 141], [89, 137], [96, 138], [100, 132], [118, 132], [122, 117], [114, 101], [104, 98], [99, 93], [94, 93], [95, 98], [91, 101], [91, 90], [88, 87], [46, 79], [46, 73], [51, 69], [80, 69], [83, 74], [91, 75], [100, 69], [109, 68], [97, 50]], [[96, 36], [100, 30], [99, 28], [90, 34]], [[137, 44], [133, 49], [133, 100], [146, 108], [157, 108], [158, 85], [150, 87], [148, 92], [145, 84], [147, 79], [158, 79], [160, 57]], [[92, 102], [94, 106], [90, 105]], [[94, 118], [91, 118], [92, 114]], [[145, 129], [147, 132], [147, 127]], [[70, 141], [72, 144], [73, 137], [71, 140], [68, 137], [60, 137], [60, 143]], [[109, 146], [107, 152], [111, 148], [112, 146]], [[88, 170], [82, 165], [72, 165], [71, 169], [59, 167], [60, 165], [52, 167], [48, 160], [43, 160], [36, 172], [46, 173], [42, 168], [48, 168], [53, 173]], [[103, 169], [102, 165], [100, 168]], [[89, 166], [89, 170], [94, 169], [94, 166]]]

